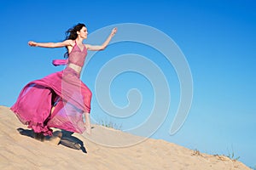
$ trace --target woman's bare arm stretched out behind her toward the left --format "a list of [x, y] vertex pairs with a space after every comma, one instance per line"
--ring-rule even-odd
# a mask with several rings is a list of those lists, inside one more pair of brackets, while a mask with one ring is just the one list
[[62, 48], [66, 46], [73, 46], [73, 40], [65, 40], [64, 42], [32, 42], [29, 41], [28, 45], [40, 48]]

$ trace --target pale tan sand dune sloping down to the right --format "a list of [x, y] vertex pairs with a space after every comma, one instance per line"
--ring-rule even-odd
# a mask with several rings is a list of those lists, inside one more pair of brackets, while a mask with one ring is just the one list
[[[18, 128], [23, 128], [21, 135]], [[55, 129], [56, 131], [58, 129]], [[0, 169], [250, 169], [225, 156], [211, 156], [160, 139], [143, 139], [95, 125], [90, 137], [65, 133], [61, 144], [31, 138], [8, 107], [0, 106]], [[138, 142], [140, 141], [140, 142]], [[104, 145], [102, 145], [104, 144]], [[108, 147], [108, 144], [126, 147]], [[69, 147], [67, 147], [69, 146]]]

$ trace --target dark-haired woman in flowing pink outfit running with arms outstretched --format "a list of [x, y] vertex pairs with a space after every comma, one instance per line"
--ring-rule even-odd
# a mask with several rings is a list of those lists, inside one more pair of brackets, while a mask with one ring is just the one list
[[[113, 28], [102, 45], [84, 44], [88, 31], [84, 24], [69, 29], [63, 42], [28, 42], [32, 47], [67, 48], [67, 59], [55, 59], [54, 65], [67, 65], [63, 71], [55, 72], [42, 79], [29, 82], [11, 107], [20, 122], [32, 128], [36, 137], [52, 135], [50, 127], [75, 133], [90, 134], [91, 92], [81, 82], [80, 73], [87, 50], [99, 51], [108, 46], [116, 33]], [[84, 122], [84, 118], [85, 122]]]

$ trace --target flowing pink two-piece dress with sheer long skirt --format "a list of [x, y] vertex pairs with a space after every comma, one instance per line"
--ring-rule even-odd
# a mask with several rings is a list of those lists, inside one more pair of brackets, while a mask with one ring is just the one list
[[[83, 67], [86, 54], [85, 46], [81, 50], [75, 44], [67, 64]], [[64, 59], [54, 62], [58, 65], [63, 61], [65, 63]], [[50, 127], [83, 133], [83, 113], [90, 113], [90, 99], [90, 89], [80, 80], [79, 73], [67, 66], [63, 71], [26, 84], [10, 109], [35, 133], [52, 135]], [[55, 110], [51, 113], [53, 106]]]

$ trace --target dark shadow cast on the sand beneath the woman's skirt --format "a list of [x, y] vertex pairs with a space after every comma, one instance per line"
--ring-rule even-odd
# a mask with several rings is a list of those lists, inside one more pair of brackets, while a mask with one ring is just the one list
[[[35, 133], [31, 129], [24, 129], [24, 128], [17, 128], [17, 131], [24, 136], [31, 137], [32, 139], [35, 139]], [[56, 131], [55, 131], [56, 132]], [[54, 135], [55, 135], [54, 132]], [[60, 131], [58, 131], [59, 133]], [[73, 150], [82, 150], [84, 153], [87, 153], [84, 143], [82, 140], [76, 138], [73, 136], [73, 132], [61, 130], [62, 136], [59, 144], [62, 144], [64, 146], [67, 146], [68, 148], [71, 148]], [[49, 136], [46, 136], [45, 139], [49, 139]]]

